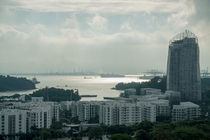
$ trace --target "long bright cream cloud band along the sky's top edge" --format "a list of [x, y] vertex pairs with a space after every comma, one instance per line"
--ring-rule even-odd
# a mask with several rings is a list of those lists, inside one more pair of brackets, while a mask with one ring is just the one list
[[40, 12], [84, 12], [84, 13], [115, 13], [131, 12], [174, 12], [180, 4], [176, 1], [160, 0], [10, 0], [16, 5], [9, 8], [19, 8]]

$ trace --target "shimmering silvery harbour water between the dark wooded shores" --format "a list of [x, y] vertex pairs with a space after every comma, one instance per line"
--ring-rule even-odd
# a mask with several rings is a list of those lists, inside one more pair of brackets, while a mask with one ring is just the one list
[[[32, 79], [34, 76], [19, 76]], [[139, 79], [138, 76], [126, 77], [106, 77], [100, 76], [36, 76], [40, 81], [35, 90], [45, 87], [55, 87], [63, 89], [78, 89], [80, 95], [97, 95], [97, 97], [84, 97], [81, 100], [103, 100], [103, 97], [118, 97], [120, 92], [113, 90], [117, 83], [142, 82], [146, 80]], [[13, 94], [31, 94], [35, 90], [19, 92], [0, 92], [0, 96], [10, 96]]]

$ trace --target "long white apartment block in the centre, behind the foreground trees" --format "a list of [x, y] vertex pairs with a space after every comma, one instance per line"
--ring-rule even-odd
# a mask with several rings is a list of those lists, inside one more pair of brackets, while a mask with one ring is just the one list
[[150, 103], [104, 102], [100, 105], [99, 123], [132, 125], [148, 120], [156, 121], [156, 106]]

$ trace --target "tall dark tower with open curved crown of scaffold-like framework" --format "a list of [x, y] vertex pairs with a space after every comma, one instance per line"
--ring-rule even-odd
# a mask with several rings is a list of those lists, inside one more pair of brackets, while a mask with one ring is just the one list
[[198, 38], [189, 30], [169, 42], [167, 90], [179, 91], [182, 101], [201, 101]]

